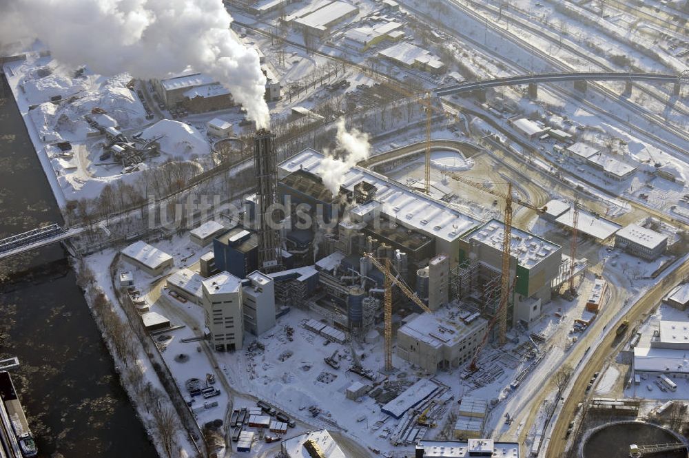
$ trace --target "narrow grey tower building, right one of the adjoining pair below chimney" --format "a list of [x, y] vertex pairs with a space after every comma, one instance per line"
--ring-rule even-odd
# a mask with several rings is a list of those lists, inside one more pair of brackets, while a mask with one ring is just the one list
[[261, 335], [275, 326], [275, 284], [272, 278], [253, 271], [242, 287], [244, 329]]

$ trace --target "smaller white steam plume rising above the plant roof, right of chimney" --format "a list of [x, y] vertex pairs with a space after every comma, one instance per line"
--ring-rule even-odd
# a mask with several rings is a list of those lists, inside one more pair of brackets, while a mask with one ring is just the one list
[[330, 189], [333, 196], [337, 196], [340, 192], [340, 185], [342, 185], [347, 171], [361, 160], [368, 158], [369, 154], [371, 154], [369, 134], [361, 132], [354, 127], [348, 131], [347, 127], [345, 127], [345, 120], [342, 118], [338, 121], [337, 126], [338, 134], [335, 152], [340, 152], [343, 156], [339, 159], [327, 156], [323, 160], [320, 171], [320, 178], [322, 178], [323, 184]]

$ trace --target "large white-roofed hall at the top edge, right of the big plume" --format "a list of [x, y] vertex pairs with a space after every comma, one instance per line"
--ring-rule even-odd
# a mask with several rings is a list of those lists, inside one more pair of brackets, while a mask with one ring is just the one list
[[359, 14], [359, 8], [340, 0], [320, 0], [285, 17], [296, 30], [315, 37], [326, 37], [334, 25]]

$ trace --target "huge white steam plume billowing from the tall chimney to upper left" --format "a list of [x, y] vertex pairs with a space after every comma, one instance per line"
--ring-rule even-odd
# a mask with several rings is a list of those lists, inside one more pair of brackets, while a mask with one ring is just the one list
[[58, 61], [108, 76], [161, 78], [190, 66], [267, 127], [258, 54], [229, 30], [231, 22], [222, 0], [0, 0], [0, 42], [37, 37]]

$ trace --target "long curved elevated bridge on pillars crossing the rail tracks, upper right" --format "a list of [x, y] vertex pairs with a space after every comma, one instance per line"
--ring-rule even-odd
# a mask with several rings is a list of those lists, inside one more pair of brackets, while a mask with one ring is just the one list
[[435, 95], [449, 96], [453, 94], [466, 94], [486, 90], [489, 87], [535, 85], [537, 83], [558, 83], [561, 81], [649, 81], [656, 83], [675, 83], [675, 92], [681, 82], [689, 82], [689, 70], [680, 74], [644, 73], [644, 72], [571, 72], [571, 73], [539, 73], [520, 76], [507, 76], [506, 78], [486, 79], [450, 86], [438, 87], [433, 92]]

